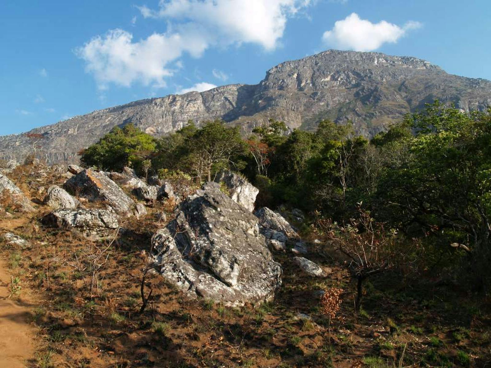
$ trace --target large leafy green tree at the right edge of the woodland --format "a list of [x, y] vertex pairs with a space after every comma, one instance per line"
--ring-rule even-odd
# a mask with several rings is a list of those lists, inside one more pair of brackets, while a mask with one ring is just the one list
[[406, 158], [385, 170], [379, 214], [406, 229], [417, 224], [446, 249], [468, 250], [484, 286], [482, 271], [491, 262], [491, 112], [435, 102], [405, 120], [416, 135], [403, 139]]

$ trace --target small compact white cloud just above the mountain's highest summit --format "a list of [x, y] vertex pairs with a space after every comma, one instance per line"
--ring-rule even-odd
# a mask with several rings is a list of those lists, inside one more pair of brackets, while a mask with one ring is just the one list
[[421, 23], [414, 21], [409, 21], [402, 27], [386, 21], [372, 23], [352, 13], [334, 23], [331, 30], [324, 32], [322, 39], [327, 45], [339, 49], [372, 51], [380, 48], [384, 43], [396, 43], [409, 30], [421, 26]]

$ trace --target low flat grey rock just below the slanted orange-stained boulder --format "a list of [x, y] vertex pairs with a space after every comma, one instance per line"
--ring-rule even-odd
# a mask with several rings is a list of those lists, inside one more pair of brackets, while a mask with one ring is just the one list
[[111, 210], [55, 210], [43, 217], [48, 226], [62, 229], [77, 229], [89, 237], [106, 237], [119, 227], [116, 213]]

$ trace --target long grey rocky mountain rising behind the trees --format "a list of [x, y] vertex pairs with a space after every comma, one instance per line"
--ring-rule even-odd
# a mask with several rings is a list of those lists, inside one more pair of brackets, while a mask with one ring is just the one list
[[79, 150], [130, 122], [162, 136], [190, 119], [199, 125], [221, 118], [247, 133], [270, 117], [307, 130], [328, 118], [340, 124], [351, 120], [357, 133], [371, 137], [435, 99], [464, 110], [485, 110], [491, 105], [491, 81], [450, 75], [415, 57], [329, 50], [281, 63], [255, 85], [136, 101], [2, 136], [0, 158], [22, 161], [39, 146], [38, 154], [49, 163], [73, 162]]

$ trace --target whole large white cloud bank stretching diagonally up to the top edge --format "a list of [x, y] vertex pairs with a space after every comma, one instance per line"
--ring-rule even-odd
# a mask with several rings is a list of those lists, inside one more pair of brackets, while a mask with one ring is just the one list
[[[283, 36], [288, 18], [313, 0], [161, 0], [156, 9], [138, 6], [143, 18], [162, 19], [167, 31], [134, 40], [122, 29], [110, 30], [76, 54], [85, 71], [94, 76], [100, 90], [111, 83], [129, 87], [141, 83], [164, 87], [189, 53], [200, 57], [210, 47], [254, 43], [273, 50]], [[136, 18], [132, 20], [134, 24]], [[225, 75], [217, 77], [225, 80]]]

